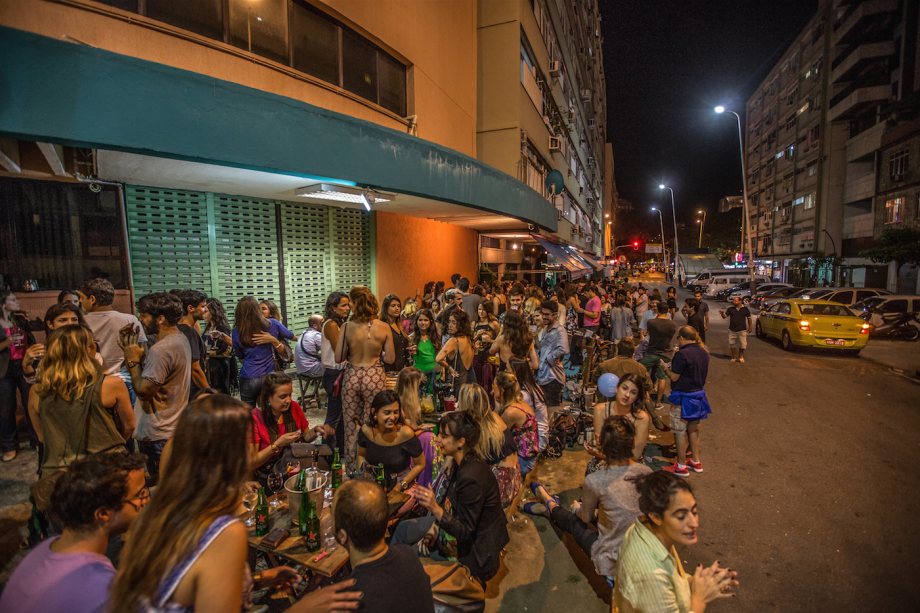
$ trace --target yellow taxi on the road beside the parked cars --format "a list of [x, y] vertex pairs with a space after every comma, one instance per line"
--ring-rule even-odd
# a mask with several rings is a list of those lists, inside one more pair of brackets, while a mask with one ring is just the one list
[[780, 300], [761, 311], [758, 338], [778, 338], [786, 351], [796, 347], [842, 349], [858, 355], [869, 342], [869, 324], [850, 309], [825, 300]]

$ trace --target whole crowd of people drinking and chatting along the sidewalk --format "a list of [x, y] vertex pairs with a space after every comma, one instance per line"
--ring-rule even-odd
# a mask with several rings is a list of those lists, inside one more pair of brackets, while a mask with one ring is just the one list
[[[404, 301], [333, 292], [297, 336], [271, 300], [244, 296], [231, 326], [217, 298], [173, 290], [138, 299], [135, 317], [90, 279], [49, 309], [41, 344], [0, 295], [3, 460], [16, 458], [18, 390], [40, 475], [32, 551], [0, 609], [249, 611], [253, 589], [297, 586], [289, 567], [252, 572], [237, 517], [244, 490], [288, 470], [286, 448], [318, 440], [342, 452], [331, 512], [352, 572], [293, 611], [433, 611], [420, 558], [459, 561], [484, 587], [528, 491], [523, 510], [574, 536], [621, 611], [702, 613], [730, 594], [736, 573], [716, 563], [690, 581], [674, 549], [696, 542], [686, 477], [703, 470], [705, 303], [688, 299], [680, 326], [674, 288], [451, 283]], [[577, 374], [594, 359], [584, 349], [608, 344], [616, 355]], [[321, 384], [324, 423], [311, 427], [287, 370]], [[597, 437], [570, 512], [537, 480], [538, 458], [567, 381], [607, 373], [618, 381], [591, 408]], [[430, 415], [432, 396], [447, 410]], [[657, 472], [644, 457], [653, 429], [676, 443]], [[409, 495], [395, 515], [375, 477]]]

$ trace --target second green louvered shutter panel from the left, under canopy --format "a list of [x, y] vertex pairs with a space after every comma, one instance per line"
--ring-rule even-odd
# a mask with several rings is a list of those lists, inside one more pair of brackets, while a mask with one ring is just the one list
[[233, 322], [243, 296], [273, 300], [281, 306], [278, 230], [275, 202], [242, 196], [213, 198], [217, 297]]

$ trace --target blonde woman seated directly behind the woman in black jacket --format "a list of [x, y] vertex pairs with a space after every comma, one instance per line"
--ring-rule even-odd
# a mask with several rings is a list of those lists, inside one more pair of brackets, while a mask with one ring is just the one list
[[521, 468], [517, 457], [514, 432], [492, 410], [486, 391], [475, 383], [460, 388], [458, 410], [468, 411], [479, 420], [482, 434], [476, 452], [492, 467], [502, 496], [502, 508], [508, 508], [521, 491]]

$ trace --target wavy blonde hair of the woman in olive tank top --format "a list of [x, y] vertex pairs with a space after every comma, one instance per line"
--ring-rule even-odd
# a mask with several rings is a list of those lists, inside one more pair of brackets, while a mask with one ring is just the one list
[[38, 369], [38, 396], [57, 394], [68, 402], [81, 397], [101, 374], [99, 363], [89, 353], [90, 347], [95, 352], [94, 343], [93, 331], [85, 325], [71, 324], [52, 332]]

